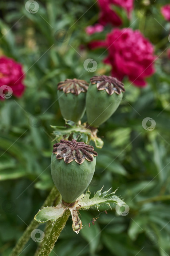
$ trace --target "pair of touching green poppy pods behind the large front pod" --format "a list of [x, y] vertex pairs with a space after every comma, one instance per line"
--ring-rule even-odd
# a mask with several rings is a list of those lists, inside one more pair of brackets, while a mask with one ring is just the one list
[[86, 110], [88, 125], [98, 127], [116, 111], [124, 91], [123, 83], [111, 76], [94, 76], [90, 84], [85, 80], [66, 79], [58, 84], [62, 116], [77, 123]]

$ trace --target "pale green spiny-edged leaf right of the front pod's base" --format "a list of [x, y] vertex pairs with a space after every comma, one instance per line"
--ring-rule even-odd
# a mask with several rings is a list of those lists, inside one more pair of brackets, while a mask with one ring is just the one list
[[81, 206], [82, 209], [88, 209], [91, 206], [99, 207], [100, 204], [107, 204], [110, 206], [110, 203], [118, 204], [119, 206], [123, 206], [125, 203], [118, 197], [115, 196], [115, 192], [108, 193], [108, 191], [104, 191], [102, 193], [103, 187], [96, 192], [94, 197], [90, 198], [90, 191], [87, 191], [86, 194], [79, 199], [78, 203]]

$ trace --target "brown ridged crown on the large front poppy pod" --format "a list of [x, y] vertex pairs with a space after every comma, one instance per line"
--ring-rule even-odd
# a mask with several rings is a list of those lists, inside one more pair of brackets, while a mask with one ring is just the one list
[[77, 163], [83, 163], [85, 159], [92, 162], [93, 156], [98, 154], [94, 151], [94, 147], [85, 144], [84, 142], [76, 142], [73, 140], [60, 140], [59, 143], [54, 144], [53, 153], [56, 154], [57, 159], [64, 158], [64, 162], [70, 163], [75, 160]]

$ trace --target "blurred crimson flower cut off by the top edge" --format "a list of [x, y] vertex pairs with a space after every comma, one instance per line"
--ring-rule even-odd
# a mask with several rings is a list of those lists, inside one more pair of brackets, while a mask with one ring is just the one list
[[127, 16], [130, 18], [130, 13], [133, 10], [133, 1], [134, 0], [98, 0], [99, 7], [101, 9], [99, 22], [102, 25], [111, 23], [114, 26], [119, 26], [122, 24], [122, 20], [112, 10], [112, 5], [117, 5], [124, 8], [127, 11]]

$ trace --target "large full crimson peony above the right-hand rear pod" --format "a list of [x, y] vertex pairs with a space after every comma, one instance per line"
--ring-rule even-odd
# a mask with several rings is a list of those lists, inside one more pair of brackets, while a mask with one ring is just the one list
[[108, 50], [104, 63], [112, 66], [112, 76], [120, 80], [128, 76], [135, 85], [145, 86], [145, 78], [154, 73], [154, 47], [138, 30], [114, 29], [104, 42], [91, 42], [90, 47]]

